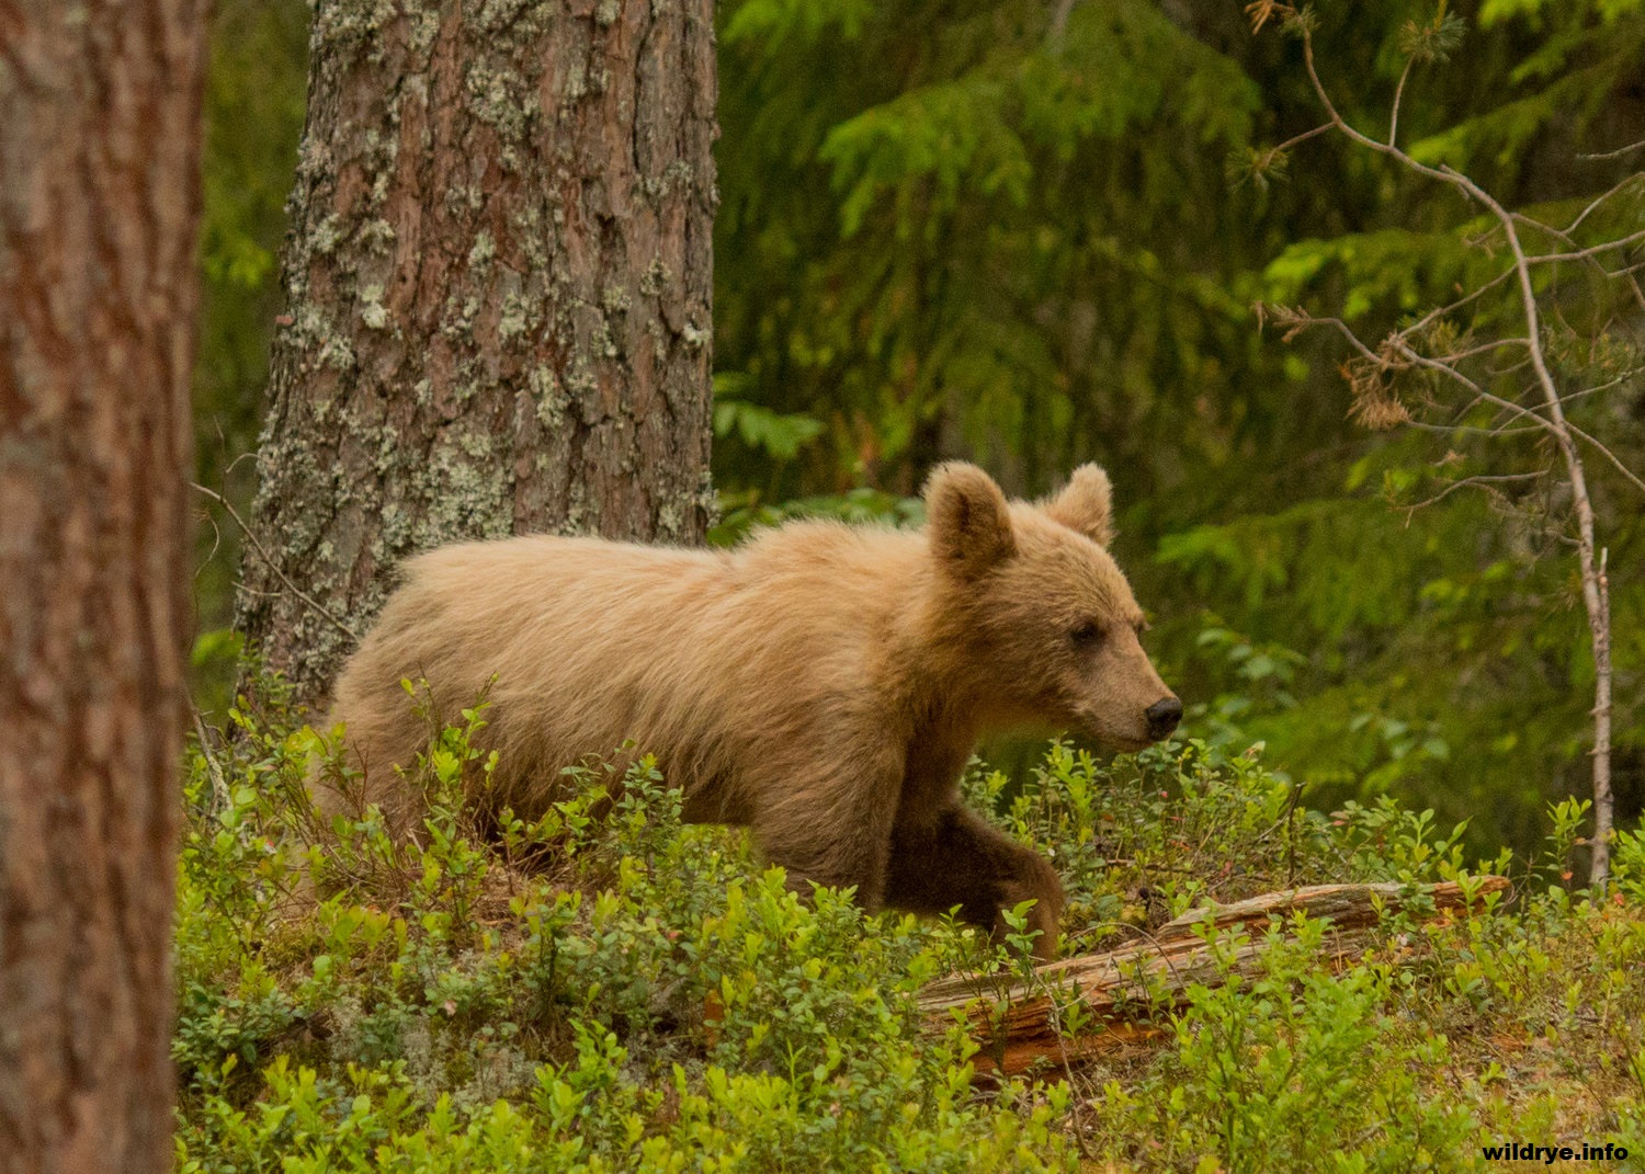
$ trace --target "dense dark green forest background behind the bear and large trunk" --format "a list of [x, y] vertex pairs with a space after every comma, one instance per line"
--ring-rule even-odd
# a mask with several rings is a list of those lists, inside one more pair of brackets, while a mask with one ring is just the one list
[[[1624, 184], [1594, 227], [1638, 230], [1642, 8], [1441, 5], [1466, 30], [1405, 79], [1402, 145], [1556, 224]], [[201, 482], [242, 515], [308, 20], [303, 0], [219, 0], [215, 16], [196, 434]], [[1433, 3], [1319, 8], [1344, 115], [1385, 128], [1411, 21], [1433, 20]], [[1480, 852], [1535, 845], [1548, 801], [1587, 794], [1592, 661], [1558, 478], [1446, 492], [1546, 469], [1543, 442], [1479, 419], [1367, 431], [1339, 337], [1262, 329], [1268, 303], [1375, 339], [1502, 268], [1480, 209], [1341, 136], [1265, 158], [1321, 122], [1295, 38], [1253, 36], [1234, 0], [727, 0], [719, 43], [719, 541], [799, 508], [908, 518], [948, 457], [1022, 495], [1101, 460], [1191, 737], [1265, 743], [1316, 809], [1392, 791], [1471, 820]], [[1550, 349], [1571, 386], [1601, 388], [1573, 418], [1645, 469], [1642, 306], [1556, 293]], [[1607, 469], [1591, 488], [1630, 827], [1645, 493]], [[220, 515], [201, 529], [214, 705], [239, 531]]]

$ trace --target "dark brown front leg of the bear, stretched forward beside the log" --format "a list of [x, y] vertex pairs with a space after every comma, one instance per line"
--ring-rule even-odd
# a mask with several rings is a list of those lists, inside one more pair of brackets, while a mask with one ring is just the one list
[[933, 914], [959, 906], [961, 917], [1002, 941], [1010, 927], [1000, 911], [1028, 899], [1035, 901], [1028, 913], [1028, 932], [1038, 931], [1035, 957], [1050, 962], [1056, 957], [1063, 883], [1038, 852], [957, 802], [892, 830], [887, 904]]

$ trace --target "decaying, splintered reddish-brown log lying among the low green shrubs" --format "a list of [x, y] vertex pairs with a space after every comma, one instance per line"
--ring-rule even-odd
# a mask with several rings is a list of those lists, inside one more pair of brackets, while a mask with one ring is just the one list
[[[1504, 876], [1469, 883], [1476, 903], [1507, 888]], [[1425, 886], [1421, 893], [1433, 903], [1430, 917], [1467, 906], [1462, 886], [1454, 881]], [[1186, 1005], [1191, 985], [1222, 982], [1216, 954], [1194, 932], [1201, 926], [1214, 924], [1224, 932], [1245, 927], [1249, 939], [1234, 949], [1229, 973], [1252, 975], [1262, 968], [1270, 922], [1283, 924], [1298, 911], [1313, 919], [1329, 917], [1331, 964], [1342, 967], [1360, 957], [1369, 931], [1385, 914], [1411, 908], [1410, 894], [1411, 890], [1402, 885], [1314, 885], [1212, 904], [1119, 949], [1035, 967], [1031, 980], [943, 978], [920, 995], [920, 1010], [933, 1031], [948, 1029], [956, 1011], [964, 1016], [982, 1044], [975, 1057], [979, 1074], [1012, 1075], [1041, 1059], [1061, 1065], [1161, 1036], [1165, 1015]], [[1048, 988], [1056, 991], [1054, 998]], [[1076, 1001], [1091, 1024], [1079, 1034], [1061, 1029], [1063, 1013], [1058, 1011]]]

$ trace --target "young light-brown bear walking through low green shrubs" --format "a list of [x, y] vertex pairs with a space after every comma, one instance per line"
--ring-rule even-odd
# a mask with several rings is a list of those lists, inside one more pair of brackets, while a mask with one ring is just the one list
[[1002, 908], [1035, 898], [1051, 957], [1056, 873], [961, 806], [966, 760], [984, 732], [1023, 725], [1137, 750], [1183, 705], [1138, 643], [1097, 465], [1010, 503], [948, 464], [924, 501], [920, 531], [795, 521], [730, 551], [533, 536], [413, 559], [337, 681], [365, 797], [400, 834], [419, 817], [392, 770], [428, 743], [401, 679], [444, 714], [484, 692], [495, 806], [535, 819], [564, 766], [632, 740], [688, 820], [752, 827], [796, 888], [854, 885], [870, 911], [957, 906], [995, 936]]

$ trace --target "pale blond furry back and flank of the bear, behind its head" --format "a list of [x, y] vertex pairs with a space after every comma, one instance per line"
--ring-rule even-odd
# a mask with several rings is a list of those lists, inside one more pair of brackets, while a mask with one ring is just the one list
[[[337, 684], [334, 720], [365, 763], [410, 763], [429, 725], [401, 679], [451, 722], [482, 692], [498, 784], [517, 809], [558, 770], [623, 740], [670, 779], [727, 774], [844, 709], [883, 704], [875, 677], [916, 534], [790, 523], [735, 551], [528, 536], [441, 548], [405, 567]], [[390, 781], [392, 781], [392, 773]]]

